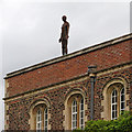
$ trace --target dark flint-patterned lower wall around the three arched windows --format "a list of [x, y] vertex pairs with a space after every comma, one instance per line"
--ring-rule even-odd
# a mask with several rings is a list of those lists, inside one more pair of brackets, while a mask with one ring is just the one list
[[[127, 88], [127, 94], [132, 97], [132, 90], [130, 88], [131, 85], [131, 68], [113, 70], [110, 73], [101, 73], [97, 74], [96, 87], [95, 87], [95, 120], [103, 119], [101, 118], [101, 112], [103, 112], [103, 107], [101, 101], [103, 100], [103, 87], [105, 85], [114, 78], [124, 78], [129, 84]], [[48, 87], [47, 89], [43, 89], [41, 91], [31, 92], [29, 95], [24, 95], [23, 97], [16, 97], [7, 101], [9, 106], [9, 110], [7, 111], [7, 116], [9, 116], [9, 129], [10, 130], [29, 130], [30, 124], [30, 107], [31, 105], [40, 99], [50, 100], [50, 113], [51, 119], [48, 123], [51, 124], [52, 130], [63, 130], [65, 116], [63, 116], [63, 111], [65, 110], [65, 99], [69, 91], [76, 91], [79, 88], [84, 92], [86, 92], [86, 101], [85, 103], [88, 106], [85, 110], [85, 114], [87, 116], [87, 120], [90, 120], [90, 79], [88, 76], [82, 78], [78, 78], [72, 81], [67, 81], [54, 87]], [[132, 109], [132, 98], [130, 98], [127, 102]]]

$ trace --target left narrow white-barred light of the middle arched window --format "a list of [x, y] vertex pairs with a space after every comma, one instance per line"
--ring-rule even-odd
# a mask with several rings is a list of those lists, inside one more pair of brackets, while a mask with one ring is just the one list
[[77, 129], [77, 101], [74, 99], [72, 103], [72, 130]]

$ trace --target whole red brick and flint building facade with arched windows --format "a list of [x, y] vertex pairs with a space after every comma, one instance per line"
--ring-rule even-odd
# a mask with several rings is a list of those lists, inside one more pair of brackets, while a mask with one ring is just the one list
[[7, 74], [4, 79], [6, 130], [82, 129], [91, 113], [94, 120], [114, 120], [132, 110], [132, 34]]

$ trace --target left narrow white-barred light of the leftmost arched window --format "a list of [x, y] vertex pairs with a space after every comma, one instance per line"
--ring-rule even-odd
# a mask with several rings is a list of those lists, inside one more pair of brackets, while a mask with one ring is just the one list
[[36, 112], [36, 130], [40, 132], [42, 130], [42, 111], [41, 109]]

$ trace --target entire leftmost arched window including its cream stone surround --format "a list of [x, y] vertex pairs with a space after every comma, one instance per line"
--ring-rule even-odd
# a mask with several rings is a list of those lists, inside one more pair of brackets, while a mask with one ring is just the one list
[[30, 130], [36, 130], [36, 132], [41, 132], [41, 130], [50, 130], [48, 113], [50, 106], [45, 103], [45, 101], [36, 101], [30, 108]]

